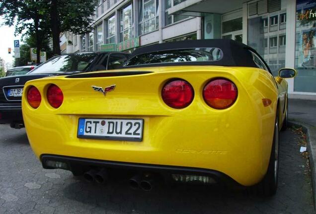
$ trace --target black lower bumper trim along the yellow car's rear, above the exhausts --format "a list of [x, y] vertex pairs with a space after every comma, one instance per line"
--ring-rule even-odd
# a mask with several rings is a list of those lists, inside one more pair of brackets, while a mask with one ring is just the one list
[[[53, 169], [56, 167], [51, 167], [47, 165], [48, 161], [56, 161], [59, 163], [66, 163], [66, 170], [70, 170], [78, 173], [78, 169], [82, 174], [92, 168], [106, 168], [107, 170], [120, 170], [120, 171], [132, 171], [134, 173], [153, 173], [158, 174], [164, 179], [165, 182], [179, 182], [179, 183], [203, 183], [204, 184], [225, 184], [225, 185], [235, 185], [239, 184], [229, 177], [228, 175], [211, 169], [205, 168], [195, 168], [195, 167], [183, 167], [183, 166], [170, 166], [170, 165], [157, 165], [157, 164], [142, 164], [142, 163], [132, 163], [132, 162], [119, 162], [119, 161], [108, 161], [108, 160], [94, 160], [85, 158], [76, 158], [68, 156], [58, 156], [58, 155], [41, 155], [40, 160], [42, 162], [43, 168]], [[177, 180], [175, 177], [179, 176], [194, 176], [195, 180], [187, 179], [186, 181]], [[200, 181], [197, 181], [199, 180]], [[208, 182], [205, 182], [207, 179]]]

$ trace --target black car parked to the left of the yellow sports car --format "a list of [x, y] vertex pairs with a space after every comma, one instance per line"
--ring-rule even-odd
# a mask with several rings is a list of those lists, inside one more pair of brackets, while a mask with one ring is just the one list
[[26, 75], [0, 78], [0, 124], [24, 127], [21, 97], [24, 84], [33, 79], [121, 67], [129, 54], [120, 52], [86, 52], [55, 56]]

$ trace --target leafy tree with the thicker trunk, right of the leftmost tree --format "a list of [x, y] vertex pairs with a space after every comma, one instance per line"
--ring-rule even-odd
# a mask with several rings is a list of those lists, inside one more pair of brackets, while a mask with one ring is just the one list
[[91, 16], [94, 15], [96, 3], [95, 0], [47, 0], [53, 54], [61, 54], [59, 41], [61, 32], [83, 34], [91, 31]]

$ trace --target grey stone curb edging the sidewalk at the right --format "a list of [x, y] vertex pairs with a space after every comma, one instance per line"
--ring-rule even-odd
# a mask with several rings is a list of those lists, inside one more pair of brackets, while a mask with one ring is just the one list
[[311, 167], [311, 178], [312, 178], [312, 190], [313, 190], [313, 201], [314, 209], [316, 206], [316, 127], [309, 124], [290, 120], [290, 126], [302, 127], [306, 133], [307, 151], [309, 153], [310, 167]]

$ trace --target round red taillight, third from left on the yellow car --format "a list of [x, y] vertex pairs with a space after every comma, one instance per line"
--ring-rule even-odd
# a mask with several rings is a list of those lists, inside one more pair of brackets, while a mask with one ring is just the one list
[[192, 103], [194, 91], [187, 81], [172, 80], [163, 86], [161, 97], [169, 107], [184, 108]]

